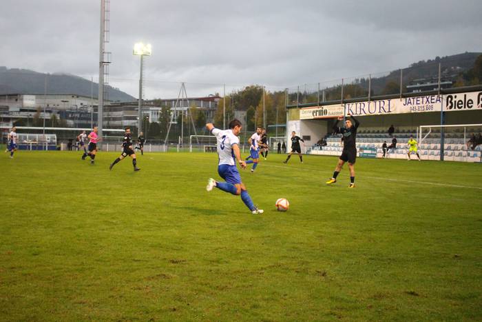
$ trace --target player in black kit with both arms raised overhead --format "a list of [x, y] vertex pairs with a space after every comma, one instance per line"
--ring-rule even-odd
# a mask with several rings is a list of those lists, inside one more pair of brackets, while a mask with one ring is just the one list
[[338, 121], [342, 121], [343, 117], [338, 117], [338, 121], [333, 125], [333, 132], [342, 133], [344, 146], [342, 155], [339, 157], [337, 167], [335, 168], [335, 172], [333, 172], [333, 177], [326, 181], [326, 184], [331, 185], [332, 183], [337, 182], [337, 176], [342, 170], [342, 166], [348, 161], [348, 169], [350, 170], [350, 185], [348, 185], [348, 188], [355, 188], [355, 161], [357, 160], [357, 145], [355, 139], [357, 137], [357, 128], [360, 123], [355, 117], [353, 117], [353, 115], [348, 114], [348, 116], [353, 119], [353, 123], [355, 124], [347, 119], [345, 121], [345, 127], [339, 128]]

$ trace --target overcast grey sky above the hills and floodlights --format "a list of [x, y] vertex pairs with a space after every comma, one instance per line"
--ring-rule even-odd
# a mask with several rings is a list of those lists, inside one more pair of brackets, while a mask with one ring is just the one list
[[[0, 66], [98, 78], [100, 0], [2, 0]], [[145, 98], [271, 90], [482, 52], [482, 1], [112, 0], [109, 83]], [[212, 85], [210, 85], [212, 84]]]

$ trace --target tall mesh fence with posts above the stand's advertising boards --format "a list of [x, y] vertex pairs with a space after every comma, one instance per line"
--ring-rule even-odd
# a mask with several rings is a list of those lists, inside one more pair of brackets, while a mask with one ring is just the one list
[[473, 59], [435, 59], [390, 72], [363, 74], [333, 81], [305, 83], [287, 89], [287, 105], [322, 105], [359, 99], [440, 93], [448, 88], [482, 85]]

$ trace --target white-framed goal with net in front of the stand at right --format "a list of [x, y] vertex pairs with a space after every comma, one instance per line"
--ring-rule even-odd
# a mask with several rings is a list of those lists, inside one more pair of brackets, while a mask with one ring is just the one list
[[481, 162], [482, 124], [421, 125], [417, 131], [423, 160]]

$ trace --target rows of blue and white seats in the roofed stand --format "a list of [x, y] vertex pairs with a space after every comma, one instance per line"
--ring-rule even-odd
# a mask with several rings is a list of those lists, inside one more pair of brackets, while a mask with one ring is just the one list
[[[468, 132], [479, 133], [481, 128], [469, 129]], [[387, 152], [388, 159], [407, 159], [407, 141], [410, 135], [417, 139], [417, 129], [413, 128], [399, 128], [393, 133], [393, 137], [397, 138], [397, 149], [395, 152]], [[454, 130], [445, 134], [444, 139], [444, 159], [446, 161], [481, 161], [482, 145], [478, 145], [473, 151], [467, 149], [466, 141], [463, 138], [462, 130]], [[342, 135], [330, 135], [326, 138], [326, 146], [313, 145], [306, 152], [308, 154], [319, 155], [339, 155], [342, 153]], [[392, 137], [386, 133], [386, 128], [364, 128], [357, 133], [357, 150], [359, 149], [376, 149], [377, 157], [383, 156], [381, 145], [387, 142], [390, 145]], [[441, 133], [440, 129], [435, 129], [426, 137], [421, 143], [419, 141], [419, 154], [422, 160], [439, 160], [441, 148]], [[412, 158], [413, 159], [413, 158]]]

